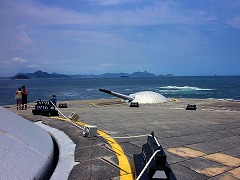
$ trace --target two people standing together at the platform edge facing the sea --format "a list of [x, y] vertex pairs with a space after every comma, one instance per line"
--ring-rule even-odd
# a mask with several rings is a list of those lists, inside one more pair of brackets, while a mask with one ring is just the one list
[[28, 91], [25, 86], [19, 87], [16, 91], [16, 101], [17, 101], [17, 110], [18, 109], [27, 109], [27, 95]]

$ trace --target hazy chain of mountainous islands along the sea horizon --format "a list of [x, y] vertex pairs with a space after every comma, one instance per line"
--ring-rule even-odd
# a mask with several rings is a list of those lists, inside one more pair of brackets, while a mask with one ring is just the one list
[[147, 71], [144, 72], [134, 72], [132, 74], [128, 73], [104, 73], [100, 75], [65, 75], [65, 74], [58, 74], [52, 73], [49, 74], [47, 72], [43, 72], [41, 70], [36, 71], [34, 73], [18, 73], [15, 76], [11, 77], [11, 79], [41, 79], [41, 78], [117, 78], [117, 77], [162, 77], [162, 76], [173, 76], [172, 74], [167, 75], [155, 75], [153, 73], [149, 73]]

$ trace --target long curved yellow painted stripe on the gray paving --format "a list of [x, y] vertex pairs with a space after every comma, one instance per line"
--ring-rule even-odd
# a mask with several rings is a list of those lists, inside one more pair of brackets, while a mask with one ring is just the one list
[[[67, 122], [70, 121], [66, 118], [60, 118], [60, 117], [52, 117], [52, 118], [67, 121]], [[79, 121], [75, 123], [81, 126], [88, 126], [88, 124], [85, 124]], [[132, 180], [133, 178], [132, 178], [131, 166], [121, 146], [113, 138], [109, 137], [109, 135], [104, 131], [98, 130], [98, 134], [108, 142], [108, 144], [112, 147], [112, 150], [115, 152], [118, 158], [118, 167], [120, 169], [120, 180]]]

